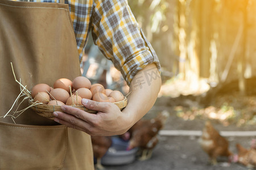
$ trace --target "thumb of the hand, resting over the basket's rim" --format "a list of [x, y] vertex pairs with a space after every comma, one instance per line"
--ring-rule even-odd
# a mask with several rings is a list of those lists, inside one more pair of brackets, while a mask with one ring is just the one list
[[93, 111], [106, 112], [106, 108], [108, 106], [108, 102], [98, 102], [89, 99], [82, 99], [81, 102], [85, 108], [88, 108]]

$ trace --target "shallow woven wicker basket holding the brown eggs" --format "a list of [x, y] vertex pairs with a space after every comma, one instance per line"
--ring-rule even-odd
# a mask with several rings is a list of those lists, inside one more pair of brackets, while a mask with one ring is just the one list
[[[31, 100], [28, 100], [28, 103], [30, 105], [32, 105], [32, 104], [34, 104], [34, 101], [31, 99]], [[119, 109], [122, 110], [127, 105], [127, 98], [125, 97], [125, 99], [123, 99], [122, 101], [115, 102], [114, 104], [117, 105], [119, 107]], [[97, 111], [92, 111], [90, 109], [87, 109], [83, 105], [75, 105], [73, 107], [79, 108], [79, 109], [81, 109], [85, 112], [88, 112], [88, 113], [97, 113]], [[55, 112], [55, 111], [62, 112], [62, 109], [58, 105], [37, 104], [37, 105], [33, 105], [30, 108], [34, 112], [39, 114], [40, 116], [43, 116], [43, 117], [46, 117], [46, 118], [49, 118], [49, 119], [52, 119], [52, 120], [54, 118], [53, 112]]]

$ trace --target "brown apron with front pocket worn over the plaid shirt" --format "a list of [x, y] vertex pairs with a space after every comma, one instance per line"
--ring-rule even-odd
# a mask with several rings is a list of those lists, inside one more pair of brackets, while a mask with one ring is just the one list
[[[20, 92], [10, 62], [28, 90], [81, 75], [68, 5], [0, 0], [0, 16], [0, 116]], [[90, 135], [31, 109], [15, 122], [0, 118], [0, 169], [94, 169]]]

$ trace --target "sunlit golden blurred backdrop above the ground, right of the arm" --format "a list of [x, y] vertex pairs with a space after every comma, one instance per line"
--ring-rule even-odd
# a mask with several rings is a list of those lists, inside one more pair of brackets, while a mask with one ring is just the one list
[[129, 1], [164, 70], [217, 83], [254, 76], [255, 3]]

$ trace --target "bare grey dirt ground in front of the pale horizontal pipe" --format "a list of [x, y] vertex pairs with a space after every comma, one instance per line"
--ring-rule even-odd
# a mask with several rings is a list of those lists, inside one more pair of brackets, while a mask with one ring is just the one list
[[[201, 150], [194, 137], [166, 137], [159, 138], [150, 160], [139, 161], [119, 166], [106, 166], [106, 169], [123, 170], [242, 170], [248, 169], [240, 164], [230, 164], [226, 160], [219, 159], [217, 165], [208, 163], [208, 156]], [[246, 145], [250, 138], [230, 138], [231, 149], [233, 144], [240, 142]]]

